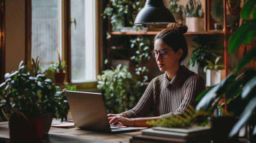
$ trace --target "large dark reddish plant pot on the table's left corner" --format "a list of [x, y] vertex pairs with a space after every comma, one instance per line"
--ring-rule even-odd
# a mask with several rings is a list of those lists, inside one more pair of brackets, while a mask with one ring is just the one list
[[10, 143], [40, 143], [49, 132], [52, 114], [22, 115], [12, 112], [9, 120]]

